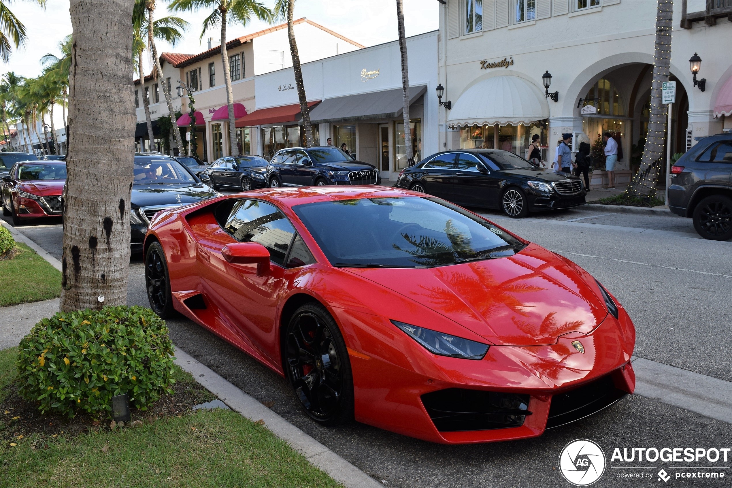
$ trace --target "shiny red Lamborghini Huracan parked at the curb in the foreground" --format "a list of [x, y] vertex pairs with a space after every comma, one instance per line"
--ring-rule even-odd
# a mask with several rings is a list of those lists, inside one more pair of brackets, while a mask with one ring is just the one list
[[160, 211], [146, 286], [289, 380], [322, 424], [529, 438], [635, 388], [635, 329], [575, 263], [385, 187], [261, 189]]

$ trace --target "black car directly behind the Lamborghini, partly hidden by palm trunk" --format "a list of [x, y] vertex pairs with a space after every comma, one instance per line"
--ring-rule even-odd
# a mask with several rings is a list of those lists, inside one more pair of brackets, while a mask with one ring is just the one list
[[172, 156], [135, 154], [130, 227], [132, 253], [142, 252], [150, 220], [157, 212], [212, 198], [220, 193], [207, 187]]

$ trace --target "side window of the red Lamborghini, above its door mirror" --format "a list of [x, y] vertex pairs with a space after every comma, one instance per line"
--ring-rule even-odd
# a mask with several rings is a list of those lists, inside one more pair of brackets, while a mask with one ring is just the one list
[[284, 266], [285, 256], [295, 235], [295, 229], [282, 212], [258, 200], [239, 200], [234, 203], [224, 228], [239, 242], [262, 244], [269, 250], [269, 259], [280, 266]]

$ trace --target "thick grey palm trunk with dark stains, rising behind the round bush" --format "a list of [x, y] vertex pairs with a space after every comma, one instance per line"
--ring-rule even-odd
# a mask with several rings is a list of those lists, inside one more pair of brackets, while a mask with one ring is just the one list
[[120, 40], [132, 39], [134, 3], [70, 1], [72, 140], [61, 258], [61, 310], [67, 312], [127, 302], [136, 117], [132, 42]]

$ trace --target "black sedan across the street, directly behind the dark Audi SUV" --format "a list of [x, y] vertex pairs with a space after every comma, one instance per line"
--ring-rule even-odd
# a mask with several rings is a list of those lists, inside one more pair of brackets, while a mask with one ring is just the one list
[[267, 162], [261, 156], [225, 156], [206, 169], [214, 189], [236, 188], [242, 192], [267, 186]]

